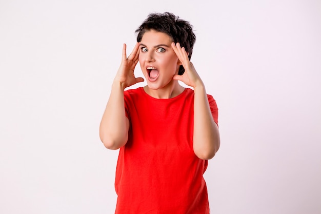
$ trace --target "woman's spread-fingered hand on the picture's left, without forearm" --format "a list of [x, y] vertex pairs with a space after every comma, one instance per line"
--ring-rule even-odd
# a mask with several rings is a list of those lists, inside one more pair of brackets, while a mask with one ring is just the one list
[[126, 55], [126, 44], [123, 45], [122, 63], [118, 68], [114, 83], [120, 83], [125, 89], [139, 82], [144, 82], [143, 77], [135, 77], [134, 69], [138, 63], [139, 43], [136, 43], [133, 51], [128, 56]]

